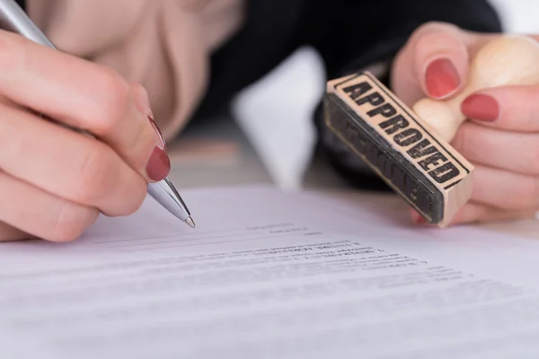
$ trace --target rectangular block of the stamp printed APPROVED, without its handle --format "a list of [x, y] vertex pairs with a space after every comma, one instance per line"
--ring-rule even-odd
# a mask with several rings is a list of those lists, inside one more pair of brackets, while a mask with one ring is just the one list
[[328, 83], [326, 125], [430, 223], [471, 194], [473, 166], [368, 73]]

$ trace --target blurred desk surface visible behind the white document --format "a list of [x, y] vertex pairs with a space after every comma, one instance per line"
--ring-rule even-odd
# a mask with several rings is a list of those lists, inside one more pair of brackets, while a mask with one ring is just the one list
[[[216, 153], [204, 153], [193, 147], [199, 144], [216, 144]], [[188, 145], [186, 145], [188, 144]], [[221, 147], [219, 147], [221, 146]], [[254, 152], [249, 139], [244, 136], [232, 118], [223, 116], [193, 123], [169, 145], [171, 153], [171, 180], [181, 188], [213, 187], [223, 185], [273, 184], [270, 173]], [[225, 154], [219, 154], [223, 148]], [[188, 153], [182, 153], [182, 152]], [[191, 152], [191, 153], [189, 153]], [[202, 153], [202, 154], [200, 154]], [[346, 183], [323, 160], [314, 158], [305, 173], [305, 189], [323, 190], [345, 201], [372, 203], [384, 211], [406, 211], [401, 198], [393, 194], [372, 193], [347, 189]], [[517, 234], [539, 240], [539, 220], [525, 219], [511, 222], [481, 223], [479, 227], [494, 232]]]

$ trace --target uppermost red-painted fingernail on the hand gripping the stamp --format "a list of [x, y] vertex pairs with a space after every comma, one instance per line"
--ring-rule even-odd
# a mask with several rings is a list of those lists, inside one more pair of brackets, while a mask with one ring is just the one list
[[425, 84], [430, 97], [442, 99], [460, 87], [461, 78], [451, 60], [440, 58], [427, 67]]

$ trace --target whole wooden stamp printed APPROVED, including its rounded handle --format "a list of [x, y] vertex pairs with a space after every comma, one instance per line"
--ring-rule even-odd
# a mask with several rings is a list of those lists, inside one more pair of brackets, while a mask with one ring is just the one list
[[480, 48], [465, 88], [448, 101], [423, 99], [409, 109], [372, 74], [327, 83], [325, 122], [429, 223], [446, 226], [472, 194], [473, 165], [449, 144], [466, 120], [472, 92], [539, 83], [539, 44], [501, 36]]

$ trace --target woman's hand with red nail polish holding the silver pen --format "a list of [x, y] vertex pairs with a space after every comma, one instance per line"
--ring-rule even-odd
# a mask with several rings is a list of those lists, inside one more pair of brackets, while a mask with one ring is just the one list
[[170, 170], [163, 149], [140, 85], [0, 31], [0, 241], [71, 241], [135, 212]]

